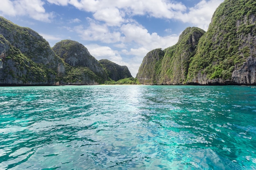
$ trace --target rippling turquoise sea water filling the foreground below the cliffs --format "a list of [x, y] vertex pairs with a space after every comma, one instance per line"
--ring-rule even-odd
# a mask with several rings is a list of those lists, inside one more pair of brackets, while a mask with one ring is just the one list
[[255, 170], [251, 86], [0, 87], [0, 170]]

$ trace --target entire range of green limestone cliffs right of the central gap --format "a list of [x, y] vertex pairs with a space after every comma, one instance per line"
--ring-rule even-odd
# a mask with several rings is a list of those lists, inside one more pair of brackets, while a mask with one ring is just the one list
[[206, 33], [187, 28], [167, 49], [150, 51], [141, 84], [256, 84], [256, 1], [225, 0]]

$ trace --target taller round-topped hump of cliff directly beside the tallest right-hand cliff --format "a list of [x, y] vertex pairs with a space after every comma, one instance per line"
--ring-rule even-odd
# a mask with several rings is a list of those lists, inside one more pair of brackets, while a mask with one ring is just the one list
[[197, 27], [188, 27], [182, 32], [175, 46], [164, 50], [158, 84], [186, 83], [190, 59], [195, 55], [198, 41], [204, 33], [204, 30]]

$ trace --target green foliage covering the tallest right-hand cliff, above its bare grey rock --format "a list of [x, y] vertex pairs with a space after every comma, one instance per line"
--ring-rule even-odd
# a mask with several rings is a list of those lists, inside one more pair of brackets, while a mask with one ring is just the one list
[[198, 50], [189, 67], [188, 82], [199, 72], [209, 79], [231, 79], [255, 48], [248, 37], [256, 36], [254, 0], [225, 0], [213, 15], [207, 33], [198, 44]]

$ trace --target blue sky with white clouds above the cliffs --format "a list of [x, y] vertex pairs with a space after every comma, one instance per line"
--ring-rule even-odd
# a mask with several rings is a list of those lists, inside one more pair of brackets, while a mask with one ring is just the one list
[[0, 15], [38, 32], [50, 46], [70, 39], [97, 60], [128, 66], [133, 77], [145, 55], [177, 43], [188, 26], [207, 31], [224, 0], [1, 0]]

